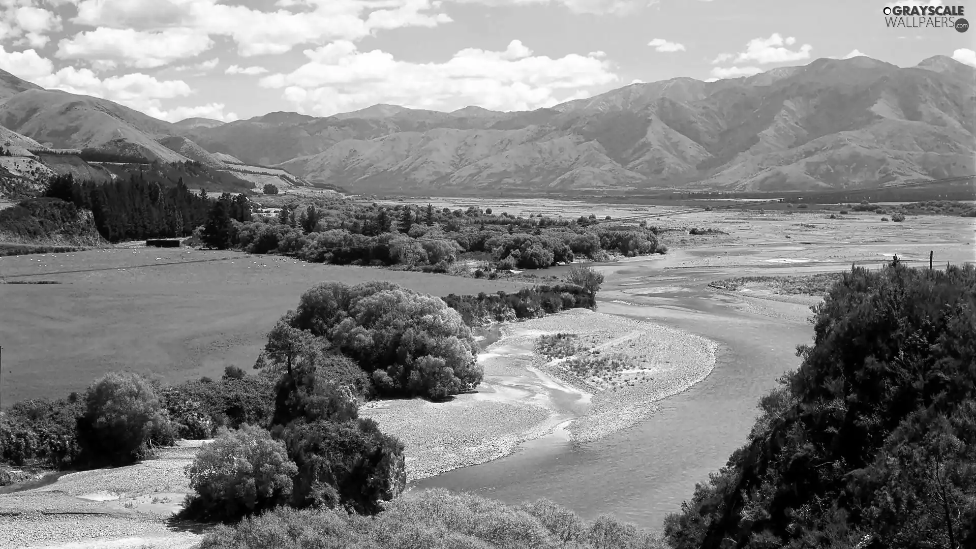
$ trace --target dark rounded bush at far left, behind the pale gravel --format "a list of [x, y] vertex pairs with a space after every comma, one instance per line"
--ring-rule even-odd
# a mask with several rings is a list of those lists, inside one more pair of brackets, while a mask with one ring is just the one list
[[125, 465], [151, 444], [170, 445], [176, 433], [148, 381], [138, 374], [108, 373], [88, 389], [78, 439], [91, 463]]

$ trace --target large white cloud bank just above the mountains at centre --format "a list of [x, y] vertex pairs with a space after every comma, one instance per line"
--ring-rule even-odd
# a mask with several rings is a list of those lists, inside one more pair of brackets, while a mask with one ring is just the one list
[[259, 83], [281, 89], [296, 108], [321, 115], [381, 102], [440, 110], [532, 109], [618, 79], [610, 63], [598, 57], [534, 56], [518, 40], [501, 52], [461, 50], [445, 63], [399, 61], [381, 50], [361, 52], [349, 41], [305, 50], [305, 57], [307, 63], [294, 71], [264, 76]]

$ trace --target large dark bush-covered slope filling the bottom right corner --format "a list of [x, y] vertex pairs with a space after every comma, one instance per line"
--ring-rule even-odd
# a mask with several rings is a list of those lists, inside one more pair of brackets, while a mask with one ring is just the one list
[[976, 269], [853, 269], [676, 549], [976, 546]]

